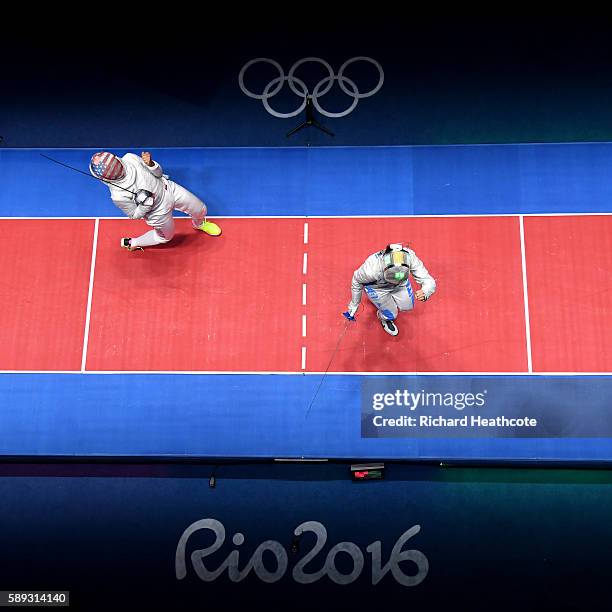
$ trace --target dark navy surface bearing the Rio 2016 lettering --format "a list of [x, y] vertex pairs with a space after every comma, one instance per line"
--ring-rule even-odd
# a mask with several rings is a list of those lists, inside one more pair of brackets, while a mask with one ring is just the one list
[[[353, 483], [341, 465], [5, 466], [0, 582], [70, 590], [75, 610], [605, 610], [611, 483], [609, 472], [561, 469], [390, 465], [384, 481]], [[243, 570], [260, 544], [276, 540], [287, 551], [284, 577], [265, 584], [251, 572], [231, 582], [226, 569], [200, 580], [190, 555], [213, 543], [200, 531], [186, 546], [187, 576], [177, 580], [179, 538], [204, 518], [226, 531], [204, 559], [209, 571], [232, 551]], [[304, 571], [317, 572], [333, 546], [352, 542], [365, 558], [355, 582], [293, 580], [315, 545], [304, 534], [291, 552], [304, 521], [327, 530]], [[367, 547], [380, 542], [385, 565], [414, 525], [420, 532], [402, 550], [426, 556], [425, 579], [402, 586], [388, 572], [373, 585]], [[232, 544], [236, 533], [243, 544]], [[274, 571], [274, 558], [264, 559]], [[335, 566], [352, 570], [345, 553]], [[416, 573], [410, 562], [400, 567]]]

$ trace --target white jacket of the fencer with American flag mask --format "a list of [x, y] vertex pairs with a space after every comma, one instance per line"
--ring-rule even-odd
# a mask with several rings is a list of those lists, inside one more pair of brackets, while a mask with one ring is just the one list
[[[149, 167], [134, 153], [126, 153], [121, 162], [125, 168], [125, 176], [122, 179], [113, 181], [115, 185], [108, 185], [111, 198], [118, 208], [120, 208], [130, 219], [142, 219], [145, 217], [150, 220], [154, 216], [163, 216], [172, 210], [174, 202], [168, 191], [168, 181], [162, 173], [161, 166], [155, 162]], [[123, 189], [120, 189], [123, 187]], [[153, 194], [151, 206], [137, 205], [134, 196], [124, 191], [129, 189], [136, 193], [140, 189], [146, 189]]]

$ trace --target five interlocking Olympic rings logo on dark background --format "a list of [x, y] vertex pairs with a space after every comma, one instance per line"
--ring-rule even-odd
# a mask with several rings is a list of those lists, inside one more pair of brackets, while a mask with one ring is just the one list
[[[264, 62], [264, 63], [268, 63], [268, 64], [272, 64], [272, 66], [274, 66], [277, 70], [278, 70], [278, 75], [275, 79], [272, 79], [264, 88], [263, 93], [261, 94], [256, 94], [253, 93], [252, 91], [249, 91], [245, 85], [244, 85], [244, 73], [254, 64], [257, 64], [259, 62]], [[327, 69], [327, 72], [329, 73], [329, 76], [326, 76], [325, 78], [321, 79], [314, 87], [314, 89], [311, 91], [309, 91], [308, 87], [306, 86], [306, 84], [304, 83], [304, 81], [302, 81], [301, 79], [298, 79], [295, 76], [295, 71], [302, 65], [305, 64], [306, 62], [316, 62], [321, 64], [322, 66], [324, 66]], [[347, 76], [344, 76], [344, 71], [347, 69], [348, 66], [350, 66], [352, 63], [354, 62], [368, 62], [370, 64], [373, 64], [377, 70], [378, 70], [378, 83], [376, 84], [376, 86], [371, 89], [370, 91], [366, 91], [365, 93], [361, 93], [359, 91], [359, 89], [357, 88], [357, 85], [355, 84], [354, 81], [352, 81], [351, 79], [349, 79]], [[322, 114], [325, 115], [326, 117], [332, 117], [332, 118], [339, 118], [339, 117], [346, 117], [349, 113], [353, 112], [353, 110], [355, 110], [355, 107], [357, 106], [357, 104], [359, 103], [359, 100], [363, 99], [363, 98], [369, 98], [370, 96], [373, 96], [375, 93], [377, 93], [380, 88], [383, 85], [383, 82], [385, 80], [385, 74], [383, 72], [383, 69], [381, 67], [381, 65], [374, 59], [372, 59], [371, 57], [353, 57], [350, 60], [347, 60], [346, 62], [344, 62], [344, 64], [342, 64], [342, 66], [340, 66], [340, 70], [338, 71], [338, 74], [334, 74], [334, 71], [332, 70], [332, 67], [323, 59], [321, 59], [320, 57], [305, 57], [301, 60], [298, 60], [297, 62], [295, 62], [295, 64], [293, 64], [293, 66], [291, 66], [291, 69], [289, 70], [289, 73], [287, 75], [285, 75], [285, 72], [283, 71], [282, 66], [272, 60], [269, 59], [267, 57], [258, 57], [255, 58], [249, 62], [247, 62], [242, 69], [240, 70], [240, 74], [238, 75], [238, 84], [240, 85], [240, 89], [242, 89], [242, 92], [249, 96], [249, 98], [254, 98], [255, 100], [261, 100], [264, 108], [274, 117], [278, 117], [279, 119], [288, 119], [289, 117], [295, 117], [296, 115], [299, 115], [305, 108], [306, 108], [306, 98], [309, 96], [312, 99], [312, 103], [314, 105], [314, 107]], [[300, 105], [300, 107], [296, 110], [294, 110], [291, 113], [279, 113], [278, 111], [274, 110], [269, 103], [269, 99], [273, 98], [282, 88], [283, 85], [285, 84], [285, 82], [289, 85], [289, 88], [291, 89], [291, 91], [298, 96], [299, 98], [302, 98], [304, 101], [302, 102], [302, 104]], [[326, 111], [325, 109], [323, 109], [321, 107], [321, 105], [319, 104], [319, 98], [321, 98], [322, 96], [324, 96], [326, 93], [329, 92], [329, 90], [333, 87], [334, 82], [338, 83], [338, 86], [340, 87], [340, 89], [347, 95], [353, 98], [352, 103], [350, 104], [350, 106], [339, 112], [339, 113], [332, 113], [329, 111]]]

